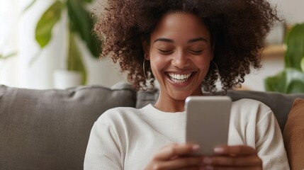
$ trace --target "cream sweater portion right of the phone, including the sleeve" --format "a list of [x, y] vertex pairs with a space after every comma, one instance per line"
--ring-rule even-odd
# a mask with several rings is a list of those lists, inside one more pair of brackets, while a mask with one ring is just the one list
[[257, 150], [263, 169], [288, 170], [281, 130], [271, 109], [251, 99], [233, 102], [228, 145], [247, 145]]

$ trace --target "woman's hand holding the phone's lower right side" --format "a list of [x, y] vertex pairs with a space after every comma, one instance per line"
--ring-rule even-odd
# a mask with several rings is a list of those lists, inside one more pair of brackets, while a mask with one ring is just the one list
[[244, 145], [215, 148], [215, 156], [203, 157], [205, 169], [262, 169], [257, 151]]

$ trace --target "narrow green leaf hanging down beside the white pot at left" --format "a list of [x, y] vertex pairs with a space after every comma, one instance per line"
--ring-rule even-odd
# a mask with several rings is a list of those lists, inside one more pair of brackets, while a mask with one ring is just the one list
[[74, 34], [69, 33], [69, 51], [67, 56], [67, 69], [81, 72], [82, 84], [86, 84], [86, 68], [82, 61], [81, 53], [75, 42]]

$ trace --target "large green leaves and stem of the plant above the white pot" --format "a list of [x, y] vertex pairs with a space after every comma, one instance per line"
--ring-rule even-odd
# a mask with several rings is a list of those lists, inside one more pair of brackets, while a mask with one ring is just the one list
[[[27, 8], [33, 6], [34, 0]], [[92, 0], [57, 0], [43, 13], [35, 28], [35, 40], [43, 49], [52, 38], [52, 29], [62, 18], [62, 13], [67, 11], [69, 22], [69, 49], [67, 55], [67, 69], [81, 72], [83, 75], [83, 84], [86, 82], [86, 68], [82, 62], [79, 47], [75, 42], [75, 35], [84, 40], [86, 47], [94, 57], [98, 57], [98, 47], [101, 42], [92, 33], [94, 27], [93, 18], [91, 18], [87, 4]]]

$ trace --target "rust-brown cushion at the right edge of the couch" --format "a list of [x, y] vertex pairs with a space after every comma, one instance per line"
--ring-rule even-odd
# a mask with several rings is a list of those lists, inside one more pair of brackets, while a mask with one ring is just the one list
[[283, 131], [283, 138], [291, 169], [304, 169], [303, 99], [295, 99]]

